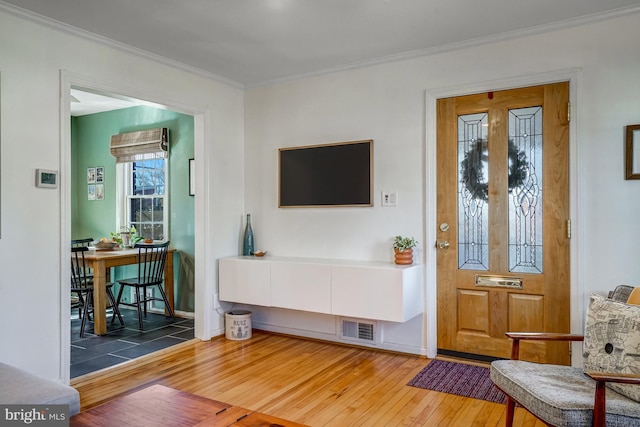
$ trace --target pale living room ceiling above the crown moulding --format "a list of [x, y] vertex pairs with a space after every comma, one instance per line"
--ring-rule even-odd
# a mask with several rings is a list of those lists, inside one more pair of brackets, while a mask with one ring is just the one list
[[0, 10], [248, 88], [637, 13], [640, 0], [0, 0]]

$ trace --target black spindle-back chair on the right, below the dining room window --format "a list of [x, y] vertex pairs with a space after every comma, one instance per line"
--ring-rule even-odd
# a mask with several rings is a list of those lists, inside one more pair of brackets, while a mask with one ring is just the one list
[[[166, 310], [171, 315], [172, 319], [175, 319], [173, 309], [169, 305], [167, 295], [164, 292], [164, 266], [167, 261], [167, 250], [169, 249], [169, 242], [146, 244], [138, 243], [135, 246], [138, 249], [138, 276], [129, 279], [118, 280], [120, 284], [120, 290], [118, 291], [118, 299], [116, 304], [129, 307], [135, 307], [138, 310], [138, 322], [140, 330], [144, 330], [142, 322], [142, 313], [147, 315], [147, 303], [151, 301], [162, 301]], [[132, 287], [135, 289], [135, 302], [124, 303], [122, 302], [122, 293], [126, 287]], [[147, 288], [157, 287], [160, 291], [162, 298], [155, 297], [152, 293], [147, 296]], [[142, 294], [140, 292], [142, 291]], [[111, 320], [113, 322], [113, 319]]]

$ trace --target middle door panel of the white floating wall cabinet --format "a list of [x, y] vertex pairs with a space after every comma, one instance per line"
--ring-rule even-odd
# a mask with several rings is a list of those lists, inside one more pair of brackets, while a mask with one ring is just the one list
[[271, 304], [274, 307], [331, 313], [331, 267], [272, 262]]

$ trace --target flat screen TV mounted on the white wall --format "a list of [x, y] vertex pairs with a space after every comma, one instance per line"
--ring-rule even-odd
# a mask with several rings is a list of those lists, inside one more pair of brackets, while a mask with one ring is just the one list
[[278, 151], [279, 207], [373, 205], [373, 140]]

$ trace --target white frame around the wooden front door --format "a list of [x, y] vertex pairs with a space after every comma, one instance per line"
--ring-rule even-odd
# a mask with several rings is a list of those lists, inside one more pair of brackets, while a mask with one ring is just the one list
[[[583, 218], [583, 210], [580, 209], [580, 182], [578, 177], [581, 176], [579, 170], [581, 168], [578, 163], [579, 152], [576, 141], [577, 121], [578, 121], [578, 104], [580, 91], [581, 70], [579, 68], [571, 68], [565, 70], [551, 71], [547, 73], [531, 74], [525, 76], [517, 76], [500, 80], [479, 81], [462, 86], [448, 86], [441, 88], [432, 88], [425, 91], [425, 226], [423, 241], [425, 263], [433, 268], [425, 269], [425, 316], [424, 330], [426, 333], [425, 342], [427, 357], [434, 358], [438, 349], [438, 326], [437, 326], [437, 273], [436, 273], [436, 255], [437, 250], [435, 241], [437, 238], [437, 177], [436, 177], [436, 100], [439, 98], [449, 98], [454, 96], [463, 96], [473, 93], [498, 91], [506, 89], [515, 89], [526, 86], [537, 86], [548, 83], [569, 82], [569, 102], [571, 103], [571, 121], [569, 122], [569, 218], [572, 222], [571, 239], [569, 241], [569, 291], [571, 295], [570, 302], [570, 319], [571, 332], [582, 333], [584, 323], [585, 304], [579, 298], [584, 295], [584, 286], [580, 283], [582, 279], [582, 270], [579, 268], [582, 264], [583, 254], [581, 250], [580, 237], [581, 224]], [[434, 244], [431, 244], [431, 243]], [[573, 343], [571, 352], [571, 364], [573, 366], [582, 363], [581, 344]]]

